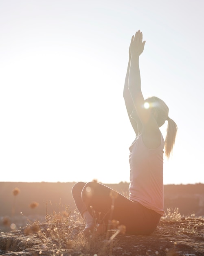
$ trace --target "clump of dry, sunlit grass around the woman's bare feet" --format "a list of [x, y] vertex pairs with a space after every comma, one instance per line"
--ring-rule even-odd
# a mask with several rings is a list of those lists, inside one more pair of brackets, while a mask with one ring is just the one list
[[[124, 227], [119, 226], [113, 234], [107, 231], [106, 234], [97, 236], [93, 232], [90, 237], [84, 237], [81, 231], [85, 222], [77, 211], [72, 213], [69, 207], [58, 213], [47, 214], [46, 222], [40, 225], [35, 221], [33, 225], [28, 225], [24, 229], [24, 234], [26, 236], [37, 234], [44, 248], [57, 248], [59, 252], [64, 249], [70, 252], [74, 250], [81, 252], [81, 255], [112, 255], [114, 238], [125, 230]], [[96, 230], [97, 225], [96, 223]]]

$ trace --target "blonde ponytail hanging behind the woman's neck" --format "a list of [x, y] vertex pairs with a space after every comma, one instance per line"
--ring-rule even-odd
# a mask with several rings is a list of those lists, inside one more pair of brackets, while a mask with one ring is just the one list
[[167, 117], [168, 126], [167, 126], [167, 133], [165, 138], [165, 155], [167, 159], [169, 159], [173, 146], [175, 144], [175, 138], [177, 135], [178, 127], [176, 123], [169, 117]]

